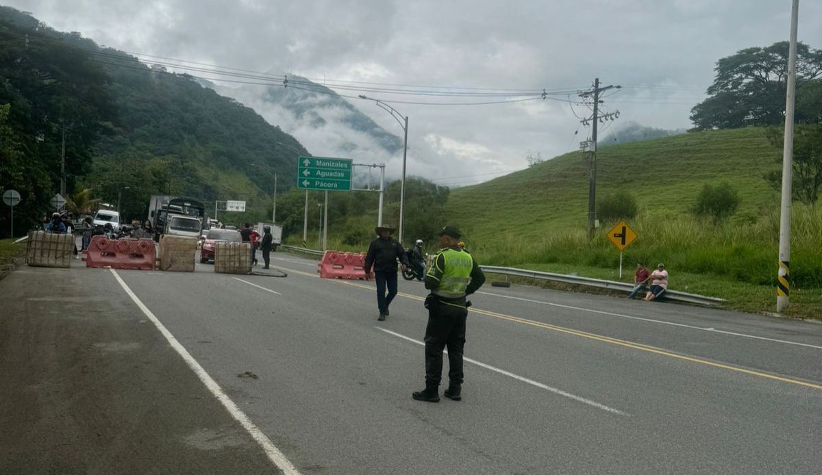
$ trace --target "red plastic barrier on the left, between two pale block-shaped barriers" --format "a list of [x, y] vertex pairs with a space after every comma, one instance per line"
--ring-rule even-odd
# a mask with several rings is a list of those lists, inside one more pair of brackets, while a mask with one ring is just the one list
[[86, 267], [154, 270], [157, 251], [150, 239], [118, 239], [92, 236], [89, 248], [83, 251]]

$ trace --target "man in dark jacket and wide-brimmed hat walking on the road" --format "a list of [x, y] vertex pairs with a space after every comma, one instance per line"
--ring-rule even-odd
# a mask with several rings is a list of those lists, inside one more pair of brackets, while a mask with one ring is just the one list
[[373, 266], [376, 279], [376, 306], [380, 309], [380, 317], [377, 320], [383, 321], [388, 316], [388, 306], [397, 295], [397, 260], [399, 259], [402, 264], [402, 270], [408, 268], [409, 260], [402, 245], [391, 239], [393, 228], [380, 226], [374, 228], [374, 232], [379, 237], [368, 246], [368, 254], [365, 256], [365, 278], [371, 277]]

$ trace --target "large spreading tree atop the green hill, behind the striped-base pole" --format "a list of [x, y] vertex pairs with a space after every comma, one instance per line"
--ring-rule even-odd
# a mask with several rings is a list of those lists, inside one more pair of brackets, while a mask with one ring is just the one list
[[[784, 120], [788, 43], [746, 48], [721, 58], [708, 99], [691, 109], [696, 130], [778, 125]], [[818, 123], [822, 112], [822, 50], [797, 44], [797, 122]]]

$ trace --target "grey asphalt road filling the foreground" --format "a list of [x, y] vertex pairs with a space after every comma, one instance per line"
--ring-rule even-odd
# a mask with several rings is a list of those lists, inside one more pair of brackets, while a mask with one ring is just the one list
[[[819, 473], [822, 466], [822, 325], [489, 286], [472, 297], [464, 399], [425, 404], [410, 397], [423, 387], [422, 284], [401, 282], [390, 317], [378, 322], [371, 283], [321, 280], [312, 261], [280, 253], [273, 265], [289, 277], [214, 274], [200, 264], [194, 274], [116, 274], [299, 473]], [[83, 306], [110, 310], [95, 314], [95, 325], [126, 329], [75, 335], [75, 345], [120, 348], [104, 351], [114, 362], [151, 354], [165, 365], [120, 380], [128, 391], [174, 387], [177, 397], [164, 404], [179, 411], [109, 404], [114, 414], [104, 422], [162, 422], [155, 437], [173, 440], [191, 463], [198, 454], [247, 463], [228, 471], [199, 463], [191, 473], [262, 473], [263, 448], [154, 326], [136, 323], [147, 317], [113, 272], [24, 272], [0, 282], [0, 297], [24, 296], [22, 311], [31, 311], [47, 289], [24, 293], [21, 285], [69, 274], [58, 281], [68, 290], [83, 282]], [[154, 344], [143, 344], [149, 337]], [[238, 377], [245, 371], [258, 379]], [[12, 396], [23, 397], [14, 385]], [[112, 385], [101, 390], [118, 394]], [[201, 405], [193, 408], [192, 398]], [[12, 432], [25, 435], [18, 422]], [[60, 426], [53, 419], [48, 427]], [[186, 444], [196, 433], [218, 441], [230, 434], [233, 445]], [[16, 448], [17, 467], [25, 466], [25, 447]], [[157, 473], [169, 463], [165, 455], [155, 458]], [[150, 472], [136, 467], [132, 473]]]

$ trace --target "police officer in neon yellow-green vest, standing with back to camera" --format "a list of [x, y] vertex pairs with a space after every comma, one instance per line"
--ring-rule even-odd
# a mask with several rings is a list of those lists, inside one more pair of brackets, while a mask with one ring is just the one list
[[440, 251], [425, 276], [425, 288], [431, 293], [425, 299], [428, 325], [425, 329], [425, 390], [413, 393], [413, 399], [436, 403], [440, 400], [442, 350], [448, 347], [448, 389], [446, 398], [462, 399], [463, 347], [465, 319], [469, 303], [465, 297], [485, 283], [477, 261], [459, 247], [459, 229], [446, 226], [440, 233]]

